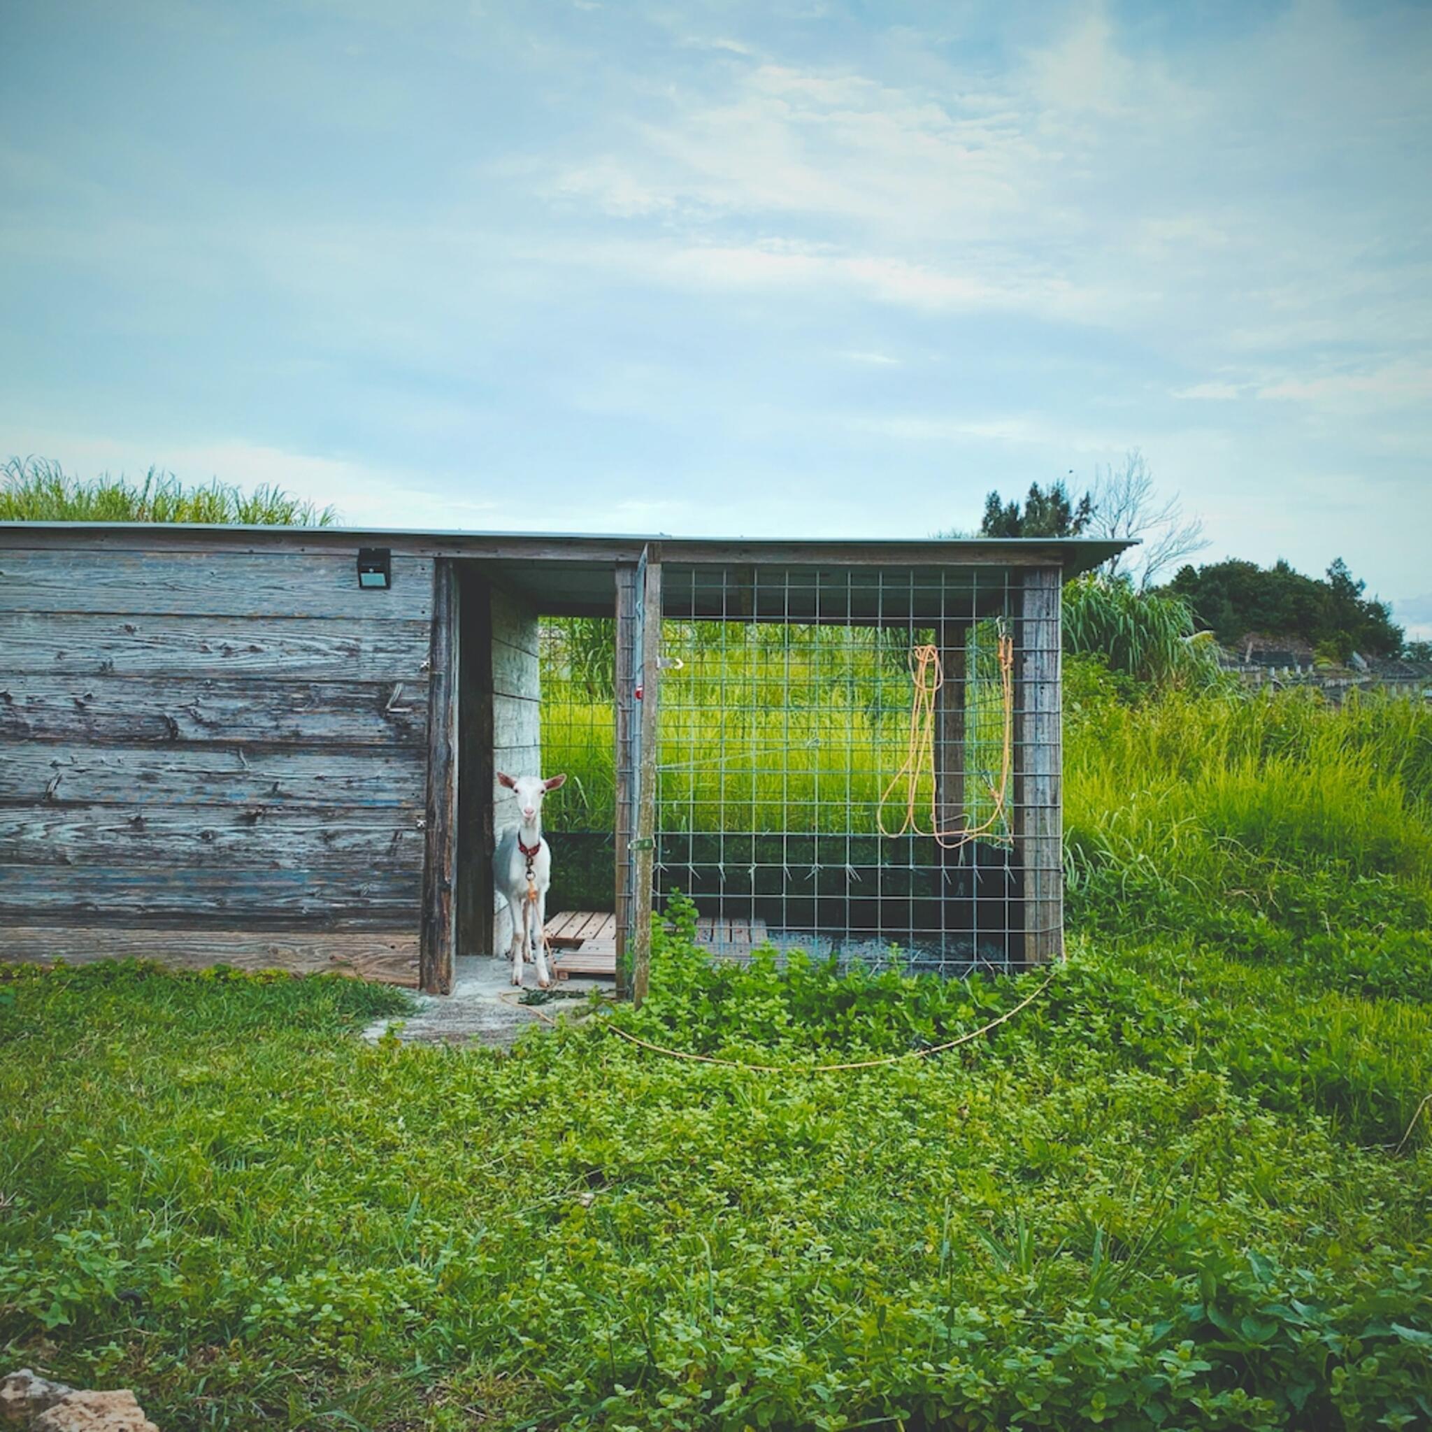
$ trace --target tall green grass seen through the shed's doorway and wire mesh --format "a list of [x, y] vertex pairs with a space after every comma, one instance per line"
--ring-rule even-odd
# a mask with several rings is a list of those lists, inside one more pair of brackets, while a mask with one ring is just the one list
[[[613, 703], [591, 674], [590, 633], [573, 626], [544, 627], [543, 763], [574, 778], [551, 816], [556, 828], [610, 829]], [[662, 679], [663, 829], [875, 835], [882, 819], [898, 828], [912, 699], [908, 640], [842, 627], [663, 623], [662, 649], [682, 662]], [[974, 821], [990, 815], [1002, 742], [994, 627], [981, 623], [967, 683]], [[928, 813], [928, 776], [915, 800]]]

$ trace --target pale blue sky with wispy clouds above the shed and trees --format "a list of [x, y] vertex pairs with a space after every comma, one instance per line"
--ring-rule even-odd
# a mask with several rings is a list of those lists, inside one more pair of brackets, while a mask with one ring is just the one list
[[1138, 448], [1432, 636], [1432, 7], [0, 0], [0, 455], [924, 537]]

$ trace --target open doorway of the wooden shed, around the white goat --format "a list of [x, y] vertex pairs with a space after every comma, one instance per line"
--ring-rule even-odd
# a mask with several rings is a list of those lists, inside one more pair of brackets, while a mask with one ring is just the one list
[[[619, 994], [632, 992], [627, 975], [636, 964], [644, 968], [640, 952], [649, 948], [652, 918], [650, 813], [647, 855], [643, 859], [637, 852], [643, 809], [639, 673], [643, 660], [656, 659], [654, 642], [642, 636], [644, 603], [636, 596], [644, 590], [646, 563], [566, 561], [537, 569], [471, 558], [447, 566], [455, 607], [457, 697], [450, 710], [434, 709], [430, 763], [440, 786], [447, 719], [455, 750], [455, 838], [447, 862], [454, 916], [447, 964], [435, 955], [424, 987], [450, 987], [454, 959], [503, 955], [510, 948], [511, 919], [494, 891], [491, 858], [520, 818], [498, 772], [564, 773], [566, 785], [547, 798], [541, 815], [551, 851], [548, 961], [558, 978], [610, 978]], [[434, 630], [438, 670], [447, 659], [437, 623]], [[430, 848], [441, 871], [442, 841], [431, 841]], [[640, 899], [634, 898], [637, 882], [644, 882]], [[431, 884], [437, 901], [441, 882]], [[434, 945], [441, 947], [441, 919]]]

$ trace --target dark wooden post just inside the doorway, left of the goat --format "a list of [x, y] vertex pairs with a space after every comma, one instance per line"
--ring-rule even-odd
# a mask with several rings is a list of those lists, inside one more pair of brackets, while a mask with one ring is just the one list
[[493, 593], [460, 574], [457, 951], [493, 954]]

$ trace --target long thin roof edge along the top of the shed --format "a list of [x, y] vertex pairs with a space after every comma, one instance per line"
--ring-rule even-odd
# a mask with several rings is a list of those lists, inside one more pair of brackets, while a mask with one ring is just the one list
[[636, 560], [643, 547], [660, 546], [667, 561], [780, 561], [792, 564], [909, 561], [1014, 566], [1058, 563], [1074, 576], [1137, 546], [1088, 537], [918, 537], [786, 538], [670, 537], [663, 533], [424, 531], [405, 527], [266, 527], [222, 523], [56, 523], [0, 521], [0, 546], [10, 536], [44, 546], [93, 540], [115, 547], [216, 547], [312, 550], [391, 547], [432, 557], [491, 557], [531, 561]]

